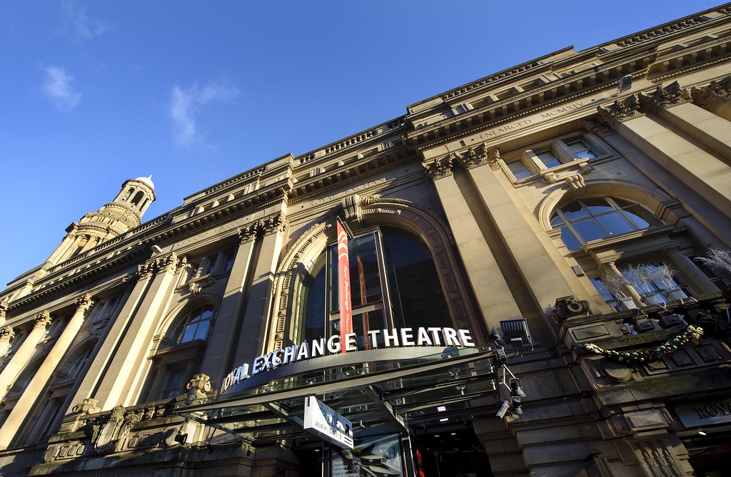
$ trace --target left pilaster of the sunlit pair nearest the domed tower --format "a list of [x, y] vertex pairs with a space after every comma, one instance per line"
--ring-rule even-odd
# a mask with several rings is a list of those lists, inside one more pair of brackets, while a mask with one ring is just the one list
[[96, 345], [94, 361], [91, 362], [91, 366], [89, 366], [83, 380], [73, 393], [74, 395], [72, 399], [66, 400], [66, 403], [69, 405], [66, 413], [70, 413], [72, 411], [71, 408], [75, 403], [81, 402], [89, 397], [93, 397], [96, 390], [99, 389], [102, 378], [107, 375], [109, 363], [113, 356], [115, 356], [115, 353], [120, 346], [120, 342], [125, 336], [126, 329], [129, 327], [132, 317], [135, 316], [135, 312], [137, 311], [137, 308], [139, 308], [140, 302], [150, 286], [153, 270], [154, 262], [140, 265], [137, 268], [137, 282], [135, 283], [132, 291], [129, 293], [129, 297], [127, 297], [124, 302], [119, 315], [113, 323], [107, 325], [105, 334], [99, 340], [100, 344], [97, 343]]

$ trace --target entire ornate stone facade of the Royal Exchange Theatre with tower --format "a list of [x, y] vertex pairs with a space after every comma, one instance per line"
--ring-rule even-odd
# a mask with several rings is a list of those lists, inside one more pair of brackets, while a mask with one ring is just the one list
[[[0, 294], [0, 474], [724, 475], [730, 56], [727, 4], [148, 222], [126, 181]], [[303, 430], [311, 396], [355, 449]]]

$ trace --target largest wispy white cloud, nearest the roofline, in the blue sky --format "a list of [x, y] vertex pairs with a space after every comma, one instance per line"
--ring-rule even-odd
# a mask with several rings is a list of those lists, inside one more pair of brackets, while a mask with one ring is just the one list
[[180, 148], [194, 145], [200, 137], [197, 132], [197, 116], [203, 107], [212, 102], [230, 104], [238, 97], [238, 88], [226, 83], [208, 83], [200, 88], [193, 83], [189, 88], [175, 86], [170, 91], [170, 118], [175, 131], [173, 140]]

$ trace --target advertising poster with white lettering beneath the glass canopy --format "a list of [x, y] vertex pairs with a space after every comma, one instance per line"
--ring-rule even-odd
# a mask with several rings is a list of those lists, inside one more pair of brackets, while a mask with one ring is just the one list
[[352, 450], [333, 448], [333, 477], [404, 477], [398, 435], [363, 439]]

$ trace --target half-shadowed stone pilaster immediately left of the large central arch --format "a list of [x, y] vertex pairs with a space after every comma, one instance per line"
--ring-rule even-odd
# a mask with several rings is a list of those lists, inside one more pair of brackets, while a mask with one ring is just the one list
[[287, 222], [284, 220], [284, 213], [281, 212], [262, 219], [257, 227], [261, 234], [261, 242], [256, 263], [251, 265], [254, 267], [251, 288], [249, 296], [246, 297], [246, 309], [243, 312], [243, 323], [238, 336], [235, 363], [265, 352], [267, 343], [265, 337], [271, 335], [267, 325], [273, 321], [270, 320], [272, 286]]

